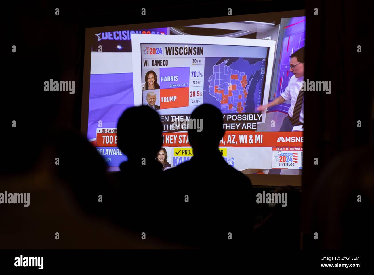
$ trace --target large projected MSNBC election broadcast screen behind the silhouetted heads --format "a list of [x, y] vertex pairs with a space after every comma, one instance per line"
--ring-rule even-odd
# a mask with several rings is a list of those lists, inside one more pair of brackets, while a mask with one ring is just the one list
[[[109, 170], [118, 171], [127, 159], [117, 148], [116, 127], [128, 107], [147, 105], [159, 113], [169, 169], [193, 157], [188, 120], [197, 106], [208, 103], [223, 113], [226, 133], [219, 146], [229, 165], [247, 174], [300, 174], [303, 125], [279, 132], [290, 101], [257, 109], [285, 91], [293, 75], [289, 56], [304, 46], [305, 18], [280, 22], [262, 26], [255, 36], [229, 33], [229, 23], [92, 28], [86, 131]], [[236, 24], [241, 31], [261, 23]]]

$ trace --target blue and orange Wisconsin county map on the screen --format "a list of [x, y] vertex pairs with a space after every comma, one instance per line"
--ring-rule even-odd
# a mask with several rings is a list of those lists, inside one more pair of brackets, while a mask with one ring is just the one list
[[[261, 64], [264, 64], [265, 60], [262, 58], [214, 59], [219, 60], [212, 64], [212, 70], [206, 74], [210, 75], [208, 91], [209, 95], [219, 102], [222, 113], [253, 112], [258, 102], [255, 101], [261, 98], [262, 87], [258, 84], [261, 80]], [[206, 61], [205, 68], [209, 70], [206, 67], [209, 66], [209, 62], [207, 64]], [[239, 70], [232, 67], [238, 67]], [[250, 97], [247, 98], [248, 93]]]

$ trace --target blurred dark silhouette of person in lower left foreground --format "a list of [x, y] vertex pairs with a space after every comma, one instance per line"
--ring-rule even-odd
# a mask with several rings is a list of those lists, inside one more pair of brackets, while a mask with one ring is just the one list
[[0, 175], [1, 193], [30, 193], [28, 207], [1, 204], [0, 216], [6, 220], [0, 226], [2, 249], [179, 248], [156, 238], [144, 241], [130, 224], [119, 227], [108, 219], [112, 190], [106, 164], [85, 137], [59, 131], [42, 149], [31, 171]]

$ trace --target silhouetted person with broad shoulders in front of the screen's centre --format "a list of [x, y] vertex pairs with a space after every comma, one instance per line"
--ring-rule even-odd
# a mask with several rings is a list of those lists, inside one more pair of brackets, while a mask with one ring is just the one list
[[252, 185], [218, 150], [223, 116], [216, 107], [203, 104], [191, 119], [202, 119], [203, 126], [201, 132], [188, 129], [194, 156], [163, 176], [172, 205], [165, 209], [171, 217], [165, 230], [197, 248], [248, 247], [254, 221]]

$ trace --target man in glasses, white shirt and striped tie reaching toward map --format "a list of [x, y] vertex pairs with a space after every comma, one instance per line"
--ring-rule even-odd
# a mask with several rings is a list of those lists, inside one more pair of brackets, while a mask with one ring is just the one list
[[269, 107], [282, 104], [286, 100], [291, 100], [288, 116], [283, 119], [279, 132], [291, 132], [294, 126], [304, 124], [304, 91], [301, 91], [304, 80], [304, 48], [298, 49], [291, 55], [289, 71], [294, 75], [289, 80], [285, 91], [269, 104], [260, 105], [256, 108], [258, 111], [263, 111]]

